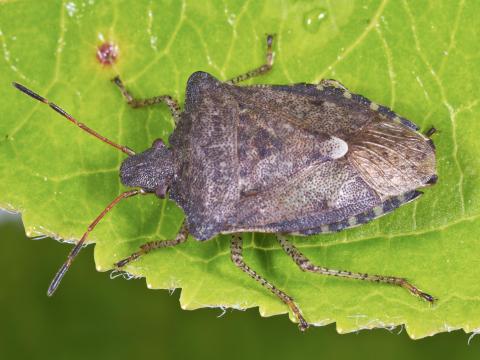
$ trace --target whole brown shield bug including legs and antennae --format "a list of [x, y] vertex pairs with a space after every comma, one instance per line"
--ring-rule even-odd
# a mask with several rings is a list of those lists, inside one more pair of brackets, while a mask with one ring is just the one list
[[227, 82], [204, 72], [192, 74], [183, 111], [167, 95], [135, 99], [120, 78], [113, 79], [130, 106], [165, 103], [175, 118], [170, 147], [155, 140], [139, 154], [13, 84], [127, 154], [120, 178], [134, 188], [115, 198], [91, 223], [53, 279], [48, 295], [56, 290], [88, 234], [120, 200], [169, 194], [185, 212], [176, 238], [142, 245], [117, 262], [117, 269], [154, 249], [181, 244], [189, 234], [199, 241], [232, 234], [234, 264], [287, 304], [305, 330], [308, 322], [293, 298], [244, 262], [240, 234], [267, 232], [277, 234], [283, 250], [303, 271], [398, 285], [434, 301], [404, 278], [314, 265], [285, 236], [365, 224], [418, 198], [418, 188], [437, 180], [431, 133], [422, 135], [412, 122], [334, 80], [317, 85], [236, 85], [268, 72], [272, 64], [272, 36], [268, 36], [266, 62], [259, 68]]

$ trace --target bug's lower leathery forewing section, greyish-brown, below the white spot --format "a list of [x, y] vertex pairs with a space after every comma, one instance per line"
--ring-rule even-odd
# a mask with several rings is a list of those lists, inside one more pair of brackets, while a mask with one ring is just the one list
[[232, 231], [299, 232], [373, 207], [379, 196], [345, 159], [317, 162], [256, 195], [243, 197]]

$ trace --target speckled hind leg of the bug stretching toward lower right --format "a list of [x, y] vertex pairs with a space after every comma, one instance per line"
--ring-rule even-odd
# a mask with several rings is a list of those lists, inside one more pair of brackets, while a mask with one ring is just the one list
[[351, 271], [346, 270], [334, 270], [328, 269], [325, 267], [314, 265], [305, 255], [303, 255], [295, 246], [293, 246], [285, 236], [277, 235], [277, 239], [280, 242], [283, 250], [290, 255], [290, 257], [295, 261], [298, 267], [302, 271], [313, 272], [322, 275], [333, 275], [333, 276], [340, 276], [349, 279], [357, 279], [357, 280], [367, 280], [367, 281], [374, 281], [379, 283], [386, 283], [391, 285], [401, 286], [410, 293], [415, 296], [421, 297], [422, 299], [428, 301], [429, 303], [433, 303], [435, 301], [434, 297], [421, 291], [417, 287], [410, 284], [404, 278], [398, 278], [394, 276], [385, 276], [385, 275], [368, 275], [365, 273], [354, 273]]

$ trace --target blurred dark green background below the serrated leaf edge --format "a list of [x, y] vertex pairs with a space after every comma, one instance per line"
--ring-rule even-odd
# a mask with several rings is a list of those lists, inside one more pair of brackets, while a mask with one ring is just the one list
[[[95, 271], [93, 247], [76, 260], [53, 298], [52, 275], [69, 245], [25, 236], [19, 216], [0, 214], [2, 359], [478, 359], [480, 336], [463, 331], [410, 340], [400, 328], [339, 335], [334, 325], [298, 331], [286, 316], [258, 310], [184, 311], [179, 290]], [[81, 310], [80, 310], [81, 309]]]

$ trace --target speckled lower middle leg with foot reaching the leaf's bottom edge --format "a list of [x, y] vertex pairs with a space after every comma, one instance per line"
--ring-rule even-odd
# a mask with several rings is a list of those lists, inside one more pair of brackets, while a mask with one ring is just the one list
[[242, 238], [238, 234], [232, 235], [231, 242], [231, 259], [233, 263], [239, 267], [243, 272], [247, 273], [250, 277], [258, 281], [262, 286], [270, 290], [272, 293], [277, 295], [285, 304], [288, 305], [290, 310], [298, 320], [298, 327], [301, 331], [305, 331], [308, 328], [307, 321], [303, 318], [300, 309], [295, 305], [293, 299], [285, 294], [282, 290], [277, 289], [273, 284], [265, 280], [263, 277], [258, 275], [254, 270], [252, 270], [245, 262], [243, 261], [243, 249], [242, 249]]

